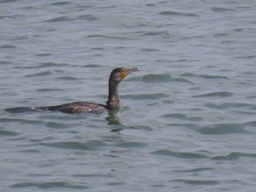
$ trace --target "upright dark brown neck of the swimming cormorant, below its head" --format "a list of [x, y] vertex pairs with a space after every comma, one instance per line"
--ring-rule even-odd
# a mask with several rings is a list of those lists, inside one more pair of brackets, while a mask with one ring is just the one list
[[118, 82], [109, 80], [108, 82], [108, 110], [118, 109], [120, 107], [120, 101], [118, 96]]

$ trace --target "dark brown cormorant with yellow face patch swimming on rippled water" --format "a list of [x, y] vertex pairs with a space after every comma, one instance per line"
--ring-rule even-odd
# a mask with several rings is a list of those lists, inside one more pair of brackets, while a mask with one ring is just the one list
[[105, 110], [117, 110], [120, 107], [120, 99], [118, 96], [118, 84], [128, 74], [137, 72], [138, 68], [126, 69], [116, 68], [110, 74], [108, 80], [108, 101], [106, 104], [96, 104], [91, 102], [73, 102], [69, 104], [61, 104], [48, 107], [12, 107], [4, 109], [6, 112], [31, 112], [31, 111], [59, 111], [70, 114], [81, 112], [104, 112]]

